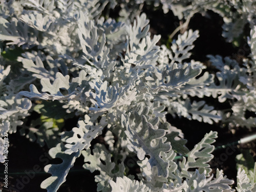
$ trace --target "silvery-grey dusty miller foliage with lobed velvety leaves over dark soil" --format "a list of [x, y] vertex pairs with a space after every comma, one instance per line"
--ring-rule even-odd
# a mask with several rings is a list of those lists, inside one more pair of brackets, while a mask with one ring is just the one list
[[[147, 3], [162, 4], [164, 12], [172, 10], [180, 19], [187, 18], [188, 12], [210, 8], [221, 14], [219, 1], [212, 1], [214, 6], [203, 2]], [[158, 46], [160, 35], [151, 37], [149, 20], [140, 13], [143, 1], [121, 2], [120, 22], [101, 16], [104, 9], [120, 3], [115, 1], [3, 1], [1, 136], [20, 127], [21, 135], [41, 146], [47, 144], [50, 156], [62, 159], [45, 167], [52, 176], [41, 188], [49, 192], [66, 181], [80, 156], [83, 168], [100, 172], [95, 176], [98, 191], [234, 191], [234, 181], [219, 169], [213, 175], [208, 164], [214, 158], [217, 132], [206, 134], [189, 151], [181, 130], [166, 121], [166, 114], [209, 124], [223, 121], [230, 127], [255, 126], [255, 118], [245, 118], [246, 111], [256, 110], [255, 9], [250, 9], [255, 5], [242, 2], [226, 1], [224, 7], [236, 7], [242, 10], [236, 14], [249, 18], [241, 22], [251, 27], [251, 54], [243, 66], [229, 57], [209, 55], [218, 70], [209, 74], [202, 72], [203, 63], [188, 61], [200, 32], [179, 34], [170, 49]], [[132, 5], [138, 8], [131, 11]], [[225, 25], [236, 27], [240, 19], [226, 14], [221, 14]], [[223, 34], [232, 40], [235, 32], [239, 33], [225, 28]], [[191, 101], [195, 96], [201, 100]], [[204, 97], [228, 100], [232, 108], [215, 110]], [[41, 117], [28, 125], [25, 122], [33, 111]], [[58, 120], [72, 117], [79, 117], [77, 126], [61, 132]], [[92, 146], [92, 140], [102, 134], [107, 145]], [[2, 138], [0, 148], [4, 162]], [[181, 161], [175, 159], [177, 154], [184, 156]], [[140, 167], [138, 180], [127, 174], [124, 163], [134, 156]], [[239, 169], [237, 191], [256, 191], [255, 172], [255, 168], [248, 174]]]

